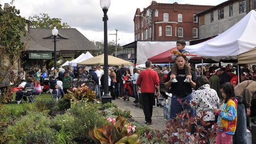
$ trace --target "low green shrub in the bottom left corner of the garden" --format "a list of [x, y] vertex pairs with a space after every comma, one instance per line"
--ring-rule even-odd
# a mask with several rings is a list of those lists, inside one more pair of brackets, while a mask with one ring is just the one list
[[5, 136], [8, 144], [54, 144], [55, 130], [43, 113], [28, 112], [15, 125], [8, 126]]

